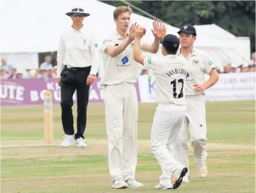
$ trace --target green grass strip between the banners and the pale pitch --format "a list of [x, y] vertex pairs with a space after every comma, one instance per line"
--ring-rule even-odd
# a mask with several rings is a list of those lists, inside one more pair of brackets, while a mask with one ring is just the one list
[[[138, 138], [150, 139], [155, 108], [156, 104], [139, 105]], [[53, 110], [54, 136], [62, 138], [61, 108], [55, 105]], [[206, 102], [206, 110], [209, 141], [255, 144], [255, 101]], [[76, 107], [73, 113], [76, 120]], [[86, 138], [107, 138], [104, 105], [89, 105], [85, 134]], [[43, 139], [43, 108], [2, 108], [1, 140], [33, 139]]]

